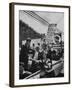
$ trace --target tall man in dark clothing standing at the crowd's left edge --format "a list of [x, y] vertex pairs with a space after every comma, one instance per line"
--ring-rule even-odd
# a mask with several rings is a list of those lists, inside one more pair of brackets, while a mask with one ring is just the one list
[[24, 69], [28, 69], [28, 53], [30, 50], [31, 39], [27, 38], [25, 45], [22, 45], [20, 51], [20, 62], [24, 63]]

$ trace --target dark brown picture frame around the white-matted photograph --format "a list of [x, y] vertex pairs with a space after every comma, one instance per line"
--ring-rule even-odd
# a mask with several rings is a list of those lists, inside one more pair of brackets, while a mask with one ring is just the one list
[[[34, 84], [34, 85], [14, 85], [14, 5], [29, 5], [43, 7], [60, 7], [69, 10], [69, 81], [51, 84]], [[47, 4], [29, 4], [29, 3], [9, 3], [9, 86], [10, 87], [26, 87], [26, 86], [44, 86], [44, 85], [60, 85], [70, 84], [70, 6], [63, 5], [47, 5]]]

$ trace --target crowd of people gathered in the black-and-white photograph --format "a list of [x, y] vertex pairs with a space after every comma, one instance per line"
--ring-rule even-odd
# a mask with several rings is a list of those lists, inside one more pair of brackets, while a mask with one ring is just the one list
[[63, 57], [64, 50], [53, 49], [52, 45], [48, 45], [46, 40], [43, 43], [38, 43], [36, 46], [33, 43], [30, 46], [31, 39], [27, 38], [25, 45], [21, 46], [19, 56], [19, 78], [24, 79], [26, 76], [36, 72], [37, 70], [49, 70], [52, 68], [52, 60], [60, 60]]

